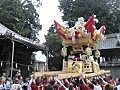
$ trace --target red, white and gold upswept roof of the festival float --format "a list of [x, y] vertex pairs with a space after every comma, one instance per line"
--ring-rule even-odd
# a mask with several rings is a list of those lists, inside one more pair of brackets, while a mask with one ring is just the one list
[[84, 18], [80, 17], [72, 28], [64, 27], [58, 22], [54, 22], [56, 32], [63, 40], [63, 45], [81, 49], [83, 45], [95, 47], [97, 43], [103, 39], [105, 26], [102, 25], [100, 29], [97, 30], [95, 26], [97, 21], [94, 15], [90, 16], [87, 21], [84, 21]]

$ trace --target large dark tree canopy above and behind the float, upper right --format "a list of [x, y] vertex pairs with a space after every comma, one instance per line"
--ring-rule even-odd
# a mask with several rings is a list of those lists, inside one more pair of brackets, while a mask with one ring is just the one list
[[[89, 16], [95, 14], [99, 19], [99, 23], [97, 27], [104, 24], [106, 25], [106, 33], [116, 33], [119, 32], [118, 25], [119, 18], [114, 19], [116, 16], [119, 17], [120, 11], [114, 9], [111, 10], [111, 6], [108, 3], [109, 0], [59, 0], [60, 1], [60, 10], [63, 12], [63, 20], [69, 22], [69, 26], [71, 21], [76, 21], [79, 17], [84, 17], [87, 19]], [[116, 0], [110, 0], [116, 1]], [[119, 1], [119, 0], [118, 0]], [[119, 4], [119, 2], [116, 2]], [[114, 7], [117, 6], [114, 5]], [[119, 9], [120, 10], [120, 9]], [[114, 11], [116, 13], [110, 13], [110, 11]], [[73, 25], [73, 24], [72, 24]]]

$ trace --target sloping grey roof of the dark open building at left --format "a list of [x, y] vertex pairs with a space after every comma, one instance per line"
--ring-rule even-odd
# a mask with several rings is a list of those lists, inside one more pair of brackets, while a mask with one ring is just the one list
[[43, 45], [13, 32], [12, 30], [8, 29], [1, 23], [0, 23], [0, 36], [19, 42], [26, 46], [30, 46], [35, 50], [45, 50], [45, 47]]

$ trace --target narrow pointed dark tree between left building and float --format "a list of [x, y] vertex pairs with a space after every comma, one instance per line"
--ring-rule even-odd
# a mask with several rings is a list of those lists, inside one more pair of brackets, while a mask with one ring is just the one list
[[54, 26], [48, 30], [48, 34], [45, 36], [46, 42], [44, 45], [48, 48], [49, 60], [48, 68], [49, 70], [62, 70], [62, 60], [61, 48], [62, 41], [55, 32]]

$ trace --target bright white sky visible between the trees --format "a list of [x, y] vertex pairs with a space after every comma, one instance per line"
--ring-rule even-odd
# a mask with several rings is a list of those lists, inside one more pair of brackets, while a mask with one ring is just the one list
[[[37, 8], [37, 12], [40, 17], [40, 24], [42, 24], [42, 30], [39, 32], [38, 36], [38, 39], [40, 39], [40, 44], [45, 42], [44, 35], [47, 34], [47, 30], [54, 23], [54, 20], [60, 22], [60, 24], [63, 24], [61, 18], [62, 13], [58, 9], [59, 6], [58, 0], [41, 0], [41, 1], [42, 6], [40, 6], [40, 8]], [[46, 61], [46, 57], [42, 55], [41, 51], [38, 51], [36, 54], [37, 61], [43, 62]]]

